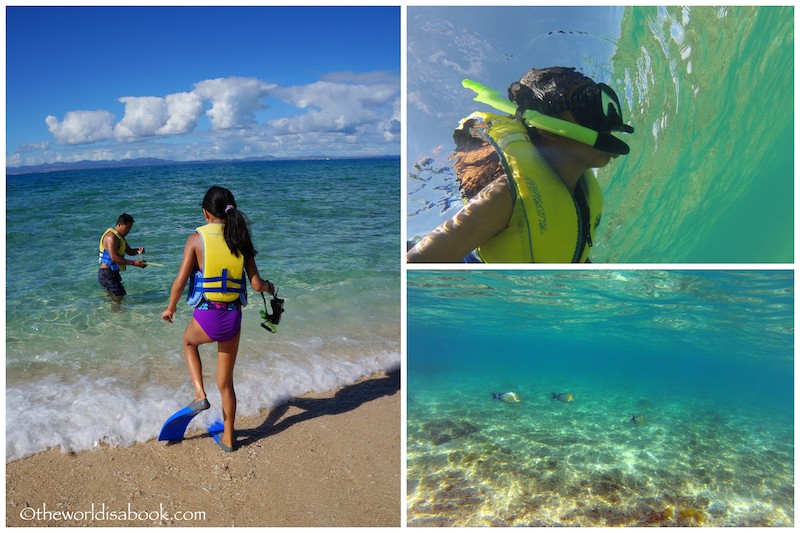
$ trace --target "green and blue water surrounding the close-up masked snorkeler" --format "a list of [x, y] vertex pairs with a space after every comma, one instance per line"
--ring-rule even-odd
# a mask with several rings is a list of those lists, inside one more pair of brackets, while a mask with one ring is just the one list
[[794, 8], [408, 8], [408, 238], [461, 206], [458, 121], [531, 67], [576, 67], [620, 96], [631, 153], [597, 171], [592, 261], [794, 258]]

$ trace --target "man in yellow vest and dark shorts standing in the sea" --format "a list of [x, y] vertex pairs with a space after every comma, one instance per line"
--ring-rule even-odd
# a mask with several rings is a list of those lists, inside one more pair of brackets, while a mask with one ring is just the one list
[[143, 254], [144, 248], [136, 250], [128, 246], [125, 237], [133, 228], [133, 217], [127, 213], [122, 213], [117, 219], [114, 228], [108, 228], [103, 236], [100, 237], [100, 270], [97, 272], [97, 280], [100, 285], [111, 295], [115, 302], [122, 302], [125, 297], [125, 287], [122, 286], [122, 276], [120, 271], [125, 270], [126, 265], [144, 268], [147, 263], [133, 259], [125, 259], [125, 254]]

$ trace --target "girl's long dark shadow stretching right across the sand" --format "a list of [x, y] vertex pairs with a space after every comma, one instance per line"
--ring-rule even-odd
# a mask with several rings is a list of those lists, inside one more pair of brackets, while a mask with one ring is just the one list
[[[273, 409], [259, 427], [237, 430], [236, 445], [240, 448], [249, 446], [261, 439], [277, 435], [295, 424], [320, 416], [346, 413], [369, 401], [391, 396], [399, 390], [400, 367], [395, 367], [387, 370], [383, 377], [343, 387], [330, 398], [291, 398], [285, 404]], [[283, 418], [290, 407], [302, 409], [302, 412]]]

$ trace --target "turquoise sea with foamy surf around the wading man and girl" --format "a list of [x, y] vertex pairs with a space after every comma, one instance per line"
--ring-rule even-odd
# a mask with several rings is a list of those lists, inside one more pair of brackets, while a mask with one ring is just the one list
[[[400, 363], [398, 158], [213, 163], [7, 177], [6, 457], [156, 437], [193, 398], [181, 337], [161, 320], [211, 185], [248, 215], [257, 264], [285, 298], [276, 334], [250, 291], [235, 381], [240, 415]], [[97, 282], [100, 235], [127, 212], [128, 242], [162, 263], [128, 268], [117, 306]], [[221, 416], [216, 345], [201, 347]]]

